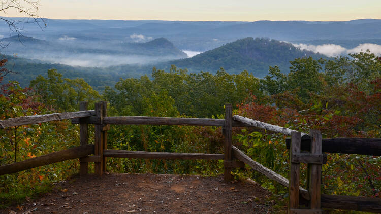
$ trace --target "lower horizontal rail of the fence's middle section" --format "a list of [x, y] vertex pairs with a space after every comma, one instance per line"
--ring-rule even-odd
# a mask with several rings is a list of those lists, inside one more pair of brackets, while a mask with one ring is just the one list
[[114, 158], [142, 158], [142, 159], [180, 159], [180, 160], [221, 160], [224, 154], [205, 154], [205, 153], [172, 153], [172, 152], [145, 152], [127, 150], [104, 150], [103, 155]]

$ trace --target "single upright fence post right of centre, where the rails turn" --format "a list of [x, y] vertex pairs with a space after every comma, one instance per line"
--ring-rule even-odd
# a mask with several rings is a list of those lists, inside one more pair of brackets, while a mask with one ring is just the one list
[[[232, 161], [232, 104], [225, 105], [225, 154], [224, 161]], [[224, 180], [232, 180], [232, 168], [224, 166]]]

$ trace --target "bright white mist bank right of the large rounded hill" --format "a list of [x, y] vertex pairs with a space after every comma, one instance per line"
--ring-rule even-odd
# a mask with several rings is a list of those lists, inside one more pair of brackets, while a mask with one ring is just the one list
[[329, 57], [336, 57], [339, 55], [346, 55], [349, 53], [365, 52], [368, 49], [371, 53], [374, 53], [376, 55], [381, 55], [381, 45], [371, 44], [371, 43], [360, 44], [352, 49], [347, 49], [340, 45], [335, 45], [335, 44], [309, 45], [309, 44], [300, 43], [300, 44], [293, 44], [293, 45], [302, 50], [305, 49], [315, 53], [321, 53]]

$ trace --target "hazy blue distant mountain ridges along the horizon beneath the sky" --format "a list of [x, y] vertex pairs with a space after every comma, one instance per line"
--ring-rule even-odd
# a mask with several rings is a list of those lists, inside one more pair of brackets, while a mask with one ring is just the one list
[[[180, 50], [192, 51], [211, 50], [245, 37], [265, 37], [289, 42], [357, 40], [356, 43], [381, 38], [380, 19], [253, 22], [47, 19], [46, 23], [47, 28], [43, 31], [35, 25], [25, 25], [25, 34], [47, 41], [67, 35], [74, 38], [96, 38], [106, 43], [133, 42], [134, 39], [130, 37], [136, 34], [153, 39], [163, 37]], [[0, 32], [9, 33], [9, 28], [0, 26]], [[344, 43], [349, 43], [348, 41]], [[353, 45], [359, 44], [351, 43]]]

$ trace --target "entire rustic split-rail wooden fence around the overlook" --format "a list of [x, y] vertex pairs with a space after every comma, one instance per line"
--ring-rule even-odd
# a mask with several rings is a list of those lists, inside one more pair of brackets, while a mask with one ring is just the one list
[[[87, 110], [87, 102], [80, 103], [79, 112], [54, 113], [11, 118], [0, 121], [0, 128], [42, 123], [54, 120], [72, 119], [79, 124], [80, 146], [30, 158], [21, 162], [0, 166], [0, 175], [14, 173], [59, 161], [77, 159], [80, 161], [80, 175], [88, 173], [88, 163], [94, 163], [95, 174], [101, 176], [106, 170], [106, 158], [144, 158], [144, 159], [214, 159], [224, 160], [224, 179], [232, 179], [231, 170], [249, 165], [271, 180], [289, 188], [289, 213], [322, 213], [322, 208], [381, 212], [381, 199], [354, 196], [321, 194], [322, 164], [330, 153], [380, 155], [381, 139], [373, 138], [334, 138], [322, 139], [320, 131], [311, 130], [309, 134], [275, 126], [239, 115], [232, 116], [231, 104], [226, 104], [225, 119], [205, 118], [168, 118], [168, 117], [107, 117], [107, 103], [95, 104], [94, 110]], [[88, 144], [88, 124], [94, 124], [94, 144]], [[225, 136], [224, 154], [205, 153], [167, 153], [107, 150], [107, 130], [113, 125], [189, 125], [221, 126]], [[257, 127], [272, 132], [290, 135], [286, 140], [290, 149], [290, 181], [282, 175], [252, 160], [232, 145], [232, 127]], [[304, 152], [302, 152], [304, 151]], [[309, 151], [306, 153], [305, 151]], [[308, 190], [299, 185], [300, 163], [308, 164]]]

